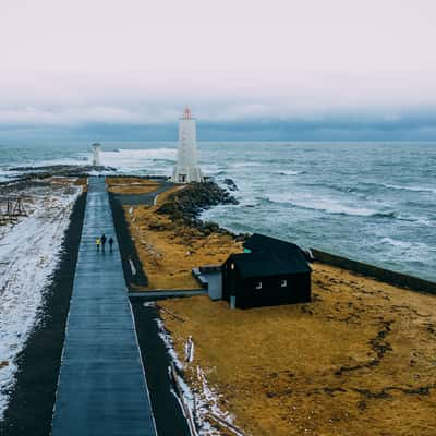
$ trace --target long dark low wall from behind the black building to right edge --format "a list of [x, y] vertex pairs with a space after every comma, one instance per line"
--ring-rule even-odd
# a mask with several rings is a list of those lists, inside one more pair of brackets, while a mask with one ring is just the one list
[[320, 250], [311, 249], [315, 261], [323, 264], [337, 266], [350, 271], [360, 274], [362, 276], [370, 276], [385, 283], [408, 288], [417, 292], [428, 292], [436, 294], [436, 283], [420, 279], [417, 277], [408, 276], [405, 274], [391, 271], [389, 269], [379, 268], [374, 265], [364, 264], [349, 259], [347, 257], [338, 256], [336, 254], [323, 252]]

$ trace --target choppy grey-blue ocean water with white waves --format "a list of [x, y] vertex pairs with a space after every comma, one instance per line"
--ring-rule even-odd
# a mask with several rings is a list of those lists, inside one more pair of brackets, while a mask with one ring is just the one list
[[[170, 174], [175, 142], [104, 144], [120, 172]], [[83, 143], [0, 144], [13, 166], [83, 164]], [[436, 143], [204, 142], [206, 175], [239, 186], [238, 206], [204, 213], [237, 232], [263, 232], [436, 281]]]

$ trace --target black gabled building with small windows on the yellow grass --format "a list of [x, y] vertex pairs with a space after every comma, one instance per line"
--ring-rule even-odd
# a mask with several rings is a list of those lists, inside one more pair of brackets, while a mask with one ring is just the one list
[[311, 301], [312, 269], [292, 243], [255, 233], [221, 272], [222, 299], [239, 308]]

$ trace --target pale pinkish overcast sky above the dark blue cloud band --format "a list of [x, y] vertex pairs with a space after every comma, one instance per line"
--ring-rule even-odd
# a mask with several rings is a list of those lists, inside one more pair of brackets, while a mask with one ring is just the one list
[[435, 20], [434, 0], [0, 0], [0, 123], [428, 118]]

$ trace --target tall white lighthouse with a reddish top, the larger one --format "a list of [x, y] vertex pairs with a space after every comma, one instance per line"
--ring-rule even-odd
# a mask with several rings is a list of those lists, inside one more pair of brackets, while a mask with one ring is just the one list
[[197, 140], [195, 120], [191, 109], [186, 108], [179, 121], [178, 161], [172, 171], [174, 183], [203, 182], [202, 171], [197, 162]]

